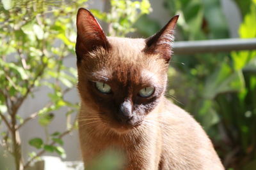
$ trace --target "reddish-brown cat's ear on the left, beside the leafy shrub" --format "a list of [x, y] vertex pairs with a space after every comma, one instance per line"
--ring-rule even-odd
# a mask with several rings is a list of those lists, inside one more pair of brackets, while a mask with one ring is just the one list
[[79, 8], [77, 12], [77, 41], [76, 54], [77, 62], [81, 60], [86, 53], [102, 46], [106, 50], [110, 47], [104, 31], [99, 22], [92, 13], [85, 8]]

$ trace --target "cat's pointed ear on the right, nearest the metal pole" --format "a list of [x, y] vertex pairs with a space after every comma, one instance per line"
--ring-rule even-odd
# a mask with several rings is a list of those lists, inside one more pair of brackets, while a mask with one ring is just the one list
[[143, 51], [159, 54], [166, 62], [169, 62], [172, 55], [173, 32], [178, 18], [179, 15], [175, 15], [161, 31], [145, 39], [146, 46]]

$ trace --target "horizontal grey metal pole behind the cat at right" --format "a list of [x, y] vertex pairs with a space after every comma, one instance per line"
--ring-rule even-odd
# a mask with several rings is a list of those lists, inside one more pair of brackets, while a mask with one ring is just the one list
[[173, 43], [174, 54], [217, 53], [239, 50], [256, 50], [256, 38], [214, 39], [204, 41], [177, 41]]

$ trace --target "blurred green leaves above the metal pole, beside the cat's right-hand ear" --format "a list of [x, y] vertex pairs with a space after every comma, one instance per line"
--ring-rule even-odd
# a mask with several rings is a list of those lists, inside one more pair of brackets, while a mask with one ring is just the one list
[[219, 0], [166, 0], [164, 3], [172, 15], [180, 14], [178, 26], [183, 39], [227, 38], [227, 24]]

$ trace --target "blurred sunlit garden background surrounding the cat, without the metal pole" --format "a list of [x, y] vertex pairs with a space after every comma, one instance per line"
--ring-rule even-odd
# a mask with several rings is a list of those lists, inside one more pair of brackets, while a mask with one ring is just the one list
[[[79, 7], [90, 9], [109, 36], [147, 38], [179, 13], [175, 42], [256, 38], [255, 0], [1, 0], [0, 147], [13, 155], [10, 169], [42, 155], [81, 160]], [[166, 96], [200, 122], [227, 169], [256, 169], [254, 49], [174, 52], [170, 62]]]

